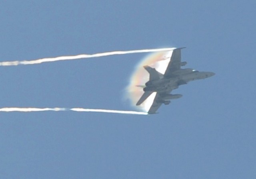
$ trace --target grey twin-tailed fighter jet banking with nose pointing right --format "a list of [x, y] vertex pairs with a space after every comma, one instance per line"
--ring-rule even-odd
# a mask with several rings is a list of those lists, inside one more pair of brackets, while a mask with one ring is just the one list
[[181, 66], [187, 64], [187, 62], [181, 61], [181, 49], [183, 48], [173, 50], [164, 74], [148, 65], [144, 66], [144, 69], [149, 73], [149, 81], [145, 85], [139, 85], [139, 87], [143, 87], [144, 94], [140, 97], [136, 105], [142, 104], [153, 92], [156, 92], [148, 114], [155, 114], [162, 104], [170, 104], [170, 100], [182, 97], [181, 94], [170, 94], [172, 90], [177, 89], [180, 85], [215, 75], [212, 72], [199, 72], [190, 68], [182, 69]]

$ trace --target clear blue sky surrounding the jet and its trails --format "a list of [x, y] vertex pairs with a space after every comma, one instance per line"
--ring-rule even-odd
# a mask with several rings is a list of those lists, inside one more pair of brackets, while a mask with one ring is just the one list
[[[187, 47], [190, 82], [140, 116], [0, 113], [1, 179], [255, 179], [255, 0], [0, 2], [0, 61]], [[0, 108], [133, 110], [124, 89], [148, 54], [0, 67]]]

